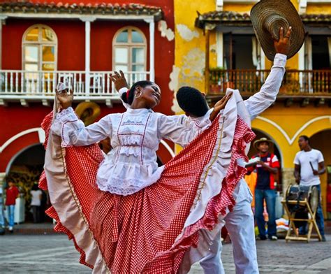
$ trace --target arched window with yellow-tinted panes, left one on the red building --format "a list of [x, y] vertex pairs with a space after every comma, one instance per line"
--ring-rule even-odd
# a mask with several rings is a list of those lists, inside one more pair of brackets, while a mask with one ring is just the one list
[[54, 71], [57, 69], [57, 36], [45, 25], [34, 25], [22, 39], [24, 71]]

